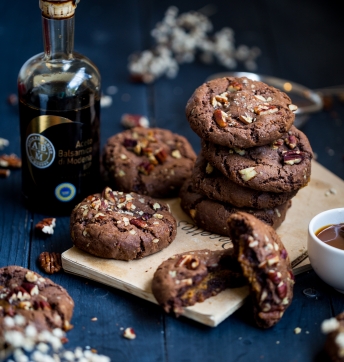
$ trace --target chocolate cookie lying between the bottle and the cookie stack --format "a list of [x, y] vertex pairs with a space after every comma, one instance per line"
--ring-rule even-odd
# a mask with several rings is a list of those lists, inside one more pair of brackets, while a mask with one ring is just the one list
[[118, 191], [172, 197], [191, 175], [195, 159], [185, 137], [166, 129], [136, 127], [108, 139], [104, 177]]

